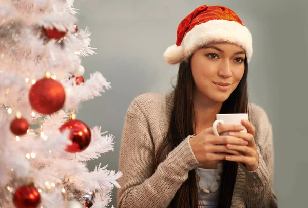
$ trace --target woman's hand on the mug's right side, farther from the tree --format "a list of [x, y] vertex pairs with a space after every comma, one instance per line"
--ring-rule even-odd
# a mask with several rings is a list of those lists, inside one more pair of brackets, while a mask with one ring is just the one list
[[247, 170], [254, 171], [259, 165], [259, 153], [257, 152], [257, 145], [254, 140], [256, 128], [248, 120], [243, 120], [242, 124], [246, 127], [248, 133], [231, 131], [229, 135], [244, 139], [248, 142], [248, 145], [243, 146], [228, 143], [227, 148], [229, 150], [241, 152], [242, 155], [226, 155], [225, 159], [228, 161], [241, 162], [245, 164]]

